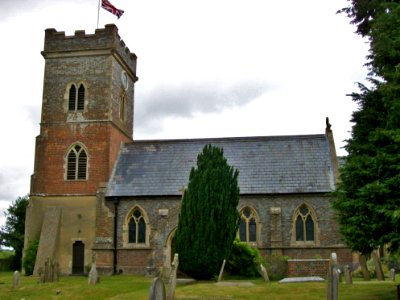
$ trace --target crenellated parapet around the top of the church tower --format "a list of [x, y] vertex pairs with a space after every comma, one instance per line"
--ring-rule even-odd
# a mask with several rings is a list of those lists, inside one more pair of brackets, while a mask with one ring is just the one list
[[118, 34], [118, 28], [114, 24], [105, 25], [105, 28], [96, 29], [94, 34], [86, 34], [85, 30], [77, 30], [73, 36], [66, 36], [64, 31], [54, 28], [45, 30], [44, 50], [45, 58], [54, 56], [68, 56], [68, 54], [79, 52], [111, 53], [129, 66], [133, 75], [136, 76], [136, 55], [130, 52], [124, 41]]

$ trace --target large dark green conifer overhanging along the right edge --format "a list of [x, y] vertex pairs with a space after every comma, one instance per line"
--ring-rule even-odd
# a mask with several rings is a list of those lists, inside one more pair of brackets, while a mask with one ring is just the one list
[[400, 246], [400, 4], [351, 1], [343, 11], [369, 38], [371, 88], [360, 85], [351, 96], [359, 104], [352, 115], [348, 156], [333, 207], [347, 244], [369, 253], [388, 244]]

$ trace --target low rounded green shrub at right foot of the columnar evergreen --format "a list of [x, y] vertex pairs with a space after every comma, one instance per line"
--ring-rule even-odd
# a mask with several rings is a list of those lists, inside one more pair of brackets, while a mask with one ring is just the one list
[[258, 249], [236, 239], [226, 264], [226, 271], [234, 276], [259, 277], [260, 263], [262, 263], [262, 258]]

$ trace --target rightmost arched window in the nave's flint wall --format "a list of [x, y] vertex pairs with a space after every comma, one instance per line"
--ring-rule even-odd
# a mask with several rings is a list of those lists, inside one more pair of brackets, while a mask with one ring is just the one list
[[315, 243], [317, 220], [313, 210], [306, 204], [300, 205], [293, 216], [293, 238], [296, 243]]

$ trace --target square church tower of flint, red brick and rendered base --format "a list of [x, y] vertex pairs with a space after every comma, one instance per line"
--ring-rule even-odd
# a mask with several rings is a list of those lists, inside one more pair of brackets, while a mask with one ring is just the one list
[[132, 142], [136, 55], [115, 25], [74, 36], [47, 29], [40, 135], [27, 211], [25, 249], [40, 238], [65, 274], [83, 273], [95, 239], [96, 193], [121, 143]]

